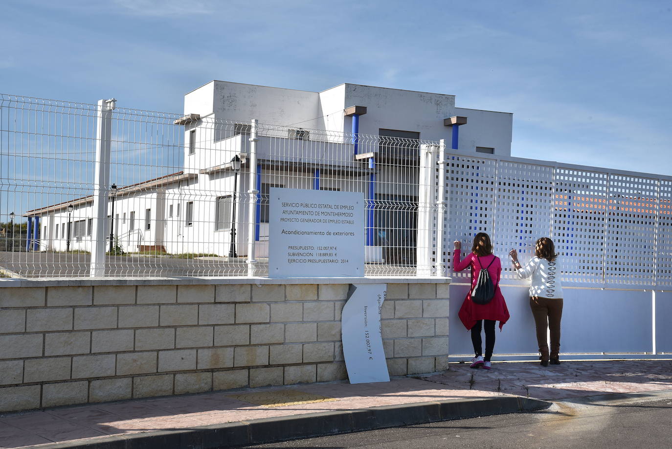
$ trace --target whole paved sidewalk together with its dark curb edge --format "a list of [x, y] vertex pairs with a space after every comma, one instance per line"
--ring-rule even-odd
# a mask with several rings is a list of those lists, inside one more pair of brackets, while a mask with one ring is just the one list
[[206, 448], [512, 413], [548, 406], [540, 400], [669, 390], [672, 361], [574, 361], [548, 368], [529, 361], [496, 362], [491, 371], [451, 364], [446, 372], [416, 377], [5, 414], [0, 415], [0, 448]]

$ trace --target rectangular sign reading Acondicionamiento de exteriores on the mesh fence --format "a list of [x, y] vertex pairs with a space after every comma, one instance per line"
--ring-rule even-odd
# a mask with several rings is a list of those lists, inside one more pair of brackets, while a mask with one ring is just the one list
[[271, 187], [269, 277], [364, 276], [364, 194]]

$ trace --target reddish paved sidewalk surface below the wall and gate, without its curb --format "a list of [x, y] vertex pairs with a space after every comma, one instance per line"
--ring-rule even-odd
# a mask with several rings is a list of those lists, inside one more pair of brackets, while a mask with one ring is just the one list
[[451, 364], [446, 372], [419, 377], [376, 384], [246, 388], [5, 414], [0, 415], [0, 448], [77, 440], [92, 443], [95, 440], [90, 439], [109, 436], [510, 394], [554, 400], [669, 390], [672, 361], [563, 362], [548, 368], [532, 362], [497, 362], [491, 371]]

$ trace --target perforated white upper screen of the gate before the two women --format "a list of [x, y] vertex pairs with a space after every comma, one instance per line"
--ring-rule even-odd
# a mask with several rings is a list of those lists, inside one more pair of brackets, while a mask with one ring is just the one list
[[480, 155], [446, 160], [446, 248], [458, 239], [466, 254], [476, 233], [489, 233], [502, 279], [515, 283], [509, 250], [524, 263], [536, 239], [550, 236], [564, 283], [671, 289], [669, 178]]

